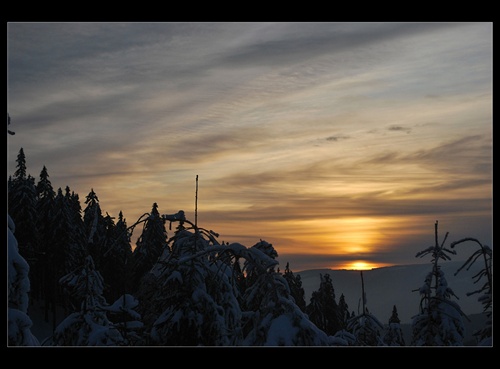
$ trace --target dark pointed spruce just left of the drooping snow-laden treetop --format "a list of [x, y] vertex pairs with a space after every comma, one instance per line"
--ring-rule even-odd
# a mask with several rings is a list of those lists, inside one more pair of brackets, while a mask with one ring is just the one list
[[151, 270], [162, 252], [167, 249], [165, 219], [160, 216], [158, 204], [155, 202], [144, 221], [144, 228], [132, 253], [130, 280], [132, 293], [137, 291], [143, 276]]

